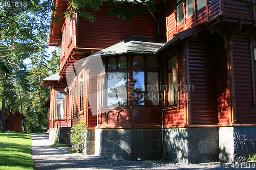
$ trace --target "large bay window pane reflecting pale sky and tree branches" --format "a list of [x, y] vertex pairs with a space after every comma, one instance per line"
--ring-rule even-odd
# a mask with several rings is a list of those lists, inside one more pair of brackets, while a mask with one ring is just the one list
[[108, 106], [127, 106], [127, 72], [108, 72]]

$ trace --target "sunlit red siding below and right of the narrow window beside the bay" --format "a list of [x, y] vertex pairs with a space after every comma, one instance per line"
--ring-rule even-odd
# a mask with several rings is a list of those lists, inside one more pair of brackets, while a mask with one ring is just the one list
[[184, 64], [183, 64], [183, 45], [178, 46], [178, 72], [179, 72], [179, 109], [168, 109], [163, 111], [164, 114], [164, 125], [180, 125], [184, 124]]

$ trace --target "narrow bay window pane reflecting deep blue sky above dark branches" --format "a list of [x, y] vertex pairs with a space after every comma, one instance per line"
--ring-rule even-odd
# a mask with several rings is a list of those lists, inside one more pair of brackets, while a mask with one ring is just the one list
[[144, 71], [133, 72], [134, 105], [145, 105], [144, 102]]

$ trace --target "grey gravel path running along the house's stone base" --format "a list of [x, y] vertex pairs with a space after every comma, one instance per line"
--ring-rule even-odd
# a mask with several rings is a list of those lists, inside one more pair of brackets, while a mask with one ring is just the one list
[[[95, 155], [72, 154], [63, 147], [49, 147], [49, 134], [32, 133], [32, 158], [36, 169], [256, 169], [252, 162], [245, 165], [207, 163], [207, 164], [174, 164], [170, 161], [124, 161], [100, 158]], [[237, 164], [238, 165], [238, 164]], [[224, 167], [225, 166], [225, 167]], [[242, 168], [241, 168], [242, 166]]]

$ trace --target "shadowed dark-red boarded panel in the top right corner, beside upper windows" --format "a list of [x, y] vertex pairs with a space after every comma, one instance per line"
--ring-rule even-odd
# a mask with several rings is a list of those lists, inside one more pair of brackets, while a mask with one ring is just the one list
[[[247, 1], [229, 0], [224, 2], [225, 15], [235, 18], [253, 19], [252, 9], [247, 9]], [[255, 7], [254, 7], [255, 8]]]

